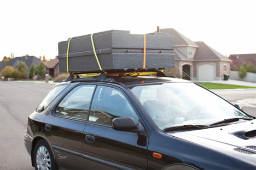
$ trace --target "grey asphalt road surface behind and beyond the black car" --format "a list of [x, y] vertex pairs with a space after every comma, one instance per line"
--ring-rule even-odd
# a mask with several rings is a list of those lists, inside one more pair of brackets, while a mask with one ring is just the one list
[[[0, 169], [34, 169], [23, 139], [27, 118], [54, 85], [0, 82]], [[218, 90], [215, 93], [232, 102], [256, 98], [256, 90]], [[256, 107], [248, 107], [249, 112], [256, 116]]]

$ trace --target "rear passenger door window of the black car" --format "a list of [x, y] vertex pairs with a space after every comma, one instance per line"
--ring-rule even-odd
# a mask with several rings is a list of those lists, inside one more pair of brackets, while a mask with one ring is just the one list
[[89, 107], [95, 86], [75, 87], [62, 99], [56, 108], [56, 114], [64, 117], [88, 120]]

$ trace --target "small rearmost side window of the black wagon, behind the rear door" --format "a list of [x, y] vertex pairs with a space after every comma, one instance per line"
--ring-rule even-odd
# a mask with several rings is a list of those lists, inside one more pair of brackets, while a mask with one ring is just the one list
[[59, 95], [62, 90], [64, 90], [68, 85], [55, 86], [50, 92], [45, 96], [44, 100], [39, 104], [36, 108], [37, 112], [42, 112], [46, 107], [50, 105], [50, 103]]

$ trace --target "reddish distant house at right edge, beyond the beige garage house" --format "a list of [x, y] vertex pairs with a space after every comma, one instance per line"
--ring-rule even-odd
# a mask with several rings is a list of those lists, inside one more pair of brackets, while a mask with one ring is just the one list
[[256, 66], [256, 54], [231, 54], [229, 59], [232, 60], [231, 70], [245, 63], [251, 63]]

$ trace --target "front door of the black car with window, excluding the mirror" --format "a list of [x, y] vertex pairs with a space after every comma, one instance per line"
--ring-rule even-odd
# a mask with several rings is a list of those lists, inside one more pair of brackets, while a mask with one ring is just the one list
[[147, 133], [117, 131], [111, 126], [118, 117], [132, 117], [139, 122], [135, 108], [122, 90], [98, 86], [89, 114], [83, 138], [85, 168], [147, 169]]

